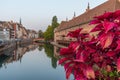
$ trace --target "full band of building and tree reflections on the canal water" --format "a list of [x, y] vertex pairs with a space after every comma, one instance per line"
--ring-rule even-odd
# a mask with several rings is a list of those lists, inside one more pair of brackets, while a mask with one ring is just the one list
[[35, 50], [37, 47], [39, 51], [42, 51], [42, 49], [45, 50], [46, 56], [51, 59], [51, 66], [56, 69], [59, 56], [59, 48], [51, 44], [19, 45], [15, 49], [4, 51], [4, 54], [10, 55], [0, 55], [0, 68], [7, 68], [7, 64], [17, 61], [21, 63], [23, 55], [26, 52]]

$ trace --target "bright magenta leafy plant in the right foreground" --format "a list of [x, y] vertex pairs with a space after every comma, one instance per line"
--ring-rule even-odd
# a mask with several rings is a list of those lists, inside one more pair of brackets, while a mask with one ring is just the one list
[[66, 79], [70, 74], [75, 80], [120, 77], [120, 10], [94, 17], [93, 24], [91, 32], [98, 32], [95, 37], [82, 33], [82, 28], [67, 35], [77, 40], [60, 50], [59, 64], [64, 65]]

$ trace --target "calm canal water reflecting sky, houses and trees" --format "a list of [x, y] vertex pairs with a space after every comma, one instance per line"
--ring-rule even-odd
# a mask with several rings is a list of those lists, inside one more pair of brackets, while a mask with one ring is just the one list
[[0, 80], [66, 80], [50, 44], [21, 45], [3, 53], [10, 55], [0, 55]]

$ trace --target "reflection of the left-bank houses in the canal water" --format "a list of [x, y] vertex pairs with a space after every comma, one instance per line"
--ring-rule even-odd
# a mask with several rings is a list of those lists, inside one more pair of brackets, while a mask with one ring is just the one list
[[[9, 49], [7, 51], [3, 51], [1, 53], [3, 53], [2, 55], [0, 55], [0, 68], [5, 67], [7, 68], [7, 64], [9, 63], [13, 63], [16, 61], [22, 61], [22, 57], [26, 52], [35, 50], [38, 46], [37, 45], [19, 45], [16, 48], [13, 49]], [[10, 54], [8, 55], [4, 55], [4, 54]]]

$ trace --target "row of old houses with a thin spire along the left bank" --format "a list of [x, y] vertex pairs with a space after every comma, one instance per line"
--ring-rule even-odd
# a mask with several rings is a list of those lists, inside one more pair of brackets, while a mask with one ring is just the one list
[[37, 38], [37, 32], [34, 30], [28, 31], [21, 23], [13, 21], [0, 21], [0, 39], [14, 40], [14, 39], [31, 39]]

